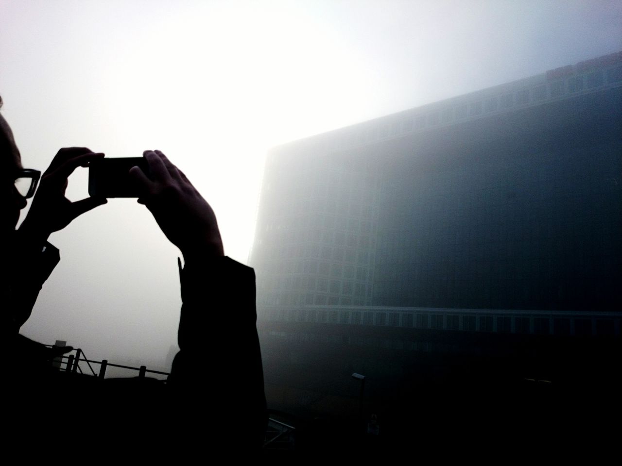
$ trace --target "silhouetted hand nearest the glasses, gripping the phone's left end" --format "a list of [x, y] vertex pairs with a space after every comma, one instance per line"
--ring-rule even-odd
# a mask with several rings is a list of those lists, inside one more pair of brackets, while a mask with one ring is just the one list
[[52, 232], [62, 230], [75, 217], [108, 201], [105, 198], [86, 198], [73, 202], [65, 197], [69, 175], [78, 167], [88, 167], [91, 160], [103, 158], [86, 147], [65, 147], [58, 151], [41, 177], [39, 189], [30, 211], [19, 231], [37, 240], [47, 240]]

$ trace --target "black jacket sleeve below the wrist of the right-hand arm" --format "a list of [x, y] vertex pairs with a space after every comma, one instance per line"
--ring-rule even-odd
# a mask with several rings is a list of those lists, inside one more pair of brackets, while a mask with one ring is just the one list
[[173, 363], [171, 388], [182, 398], [182, 409], [198, 408], [207, 423], [203, 425], [215, 423], [216, 438], [218, 432], [233, 429], [238, 442], [260, 447], [267, 411], [254, 270], [219, 257], [187, 264], [180, 277], [180, 352]]

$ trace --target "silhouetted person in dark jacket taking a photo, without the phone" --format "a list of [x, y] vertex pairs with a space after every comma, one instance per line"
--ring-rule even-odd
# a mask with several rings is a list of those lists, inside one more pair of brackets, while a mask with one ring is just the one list
[[[180, 459], [213, 447], [232, 455], [261, 448], [267, 414], [254, 272], [225, 257], [214, 212], [182, 171], [157, 150], [143, 154], [149, 177], [138, 167], [130, 170], [140, 186], [139, 203], [152, 212], [185, 261], [179, 267], [181, 350], [169, 380], [66, 377], [50, 360], [70, 348], [49, 349], [21, 336], [19, 329], [60, 260], [58, 249], [47, 242], [49, 235], [106, 203], [103, 198], [73, 203], [65, 198], [73, 170], [104, 154], [62, 148], [34, 194], [40, 173], [22, 168], [1, 115], [0, 151], [1, 234], [9, 254], [2, 294], [2, 340], [9, 355], [4, 378], [7, 445], [22, 454], [46, 454], [65, 445], [74, 453], [160, 459], [169, 454]], [[30, 211], [16, 230], [20, 211], [33, 194]]]

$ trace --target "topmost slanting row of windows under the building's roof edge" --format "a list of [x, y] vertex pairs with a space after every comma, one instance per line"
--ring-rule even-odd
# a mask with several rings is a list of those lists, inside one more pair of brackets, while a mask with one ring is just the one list
[[605, 70], [593, 71], [587, 75], [572, 76], [566, 80], [552, 81], [534, 88], [519, 89], [511, 93], [495, 96], [483, 101], [475, 101], [469, 104], [460, 104], [455, 107], [448, 107], [441, 111], [433, 111], [427, 114], [420, 114], [415, 117], [407, 117], [402, 121], [386, 124], [382, 127], [371, 127], [360, 132], [353, 132], [346, 137], [336, 140], [340, 150], [356, 145], [368, 144], [377, 140], [394, 137], [399, 134], [422, 130], [426, 127], [434, 127], [439, 124], [448, 124], [460, 121], [466, 117], [478, 117], [483, 114], [492, 113], [499, 110], [506, 110], [514, 106], [522, 106], [530, 102], [543, 101], [547, 98], [559, 98], [565, 94], [573, 94], [584, 89], [593, 89], [603, 86], [606, 83], [613, 84], [622, 81], [622, 66]]

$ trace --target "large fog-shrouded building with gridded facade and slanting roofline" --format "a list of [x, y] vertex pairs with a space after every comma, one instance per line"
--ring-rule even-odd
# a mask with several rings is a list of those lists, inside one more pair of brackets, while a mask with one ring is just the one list
[[259, 319], [620, 335], [622, 52], [271, 150]]

